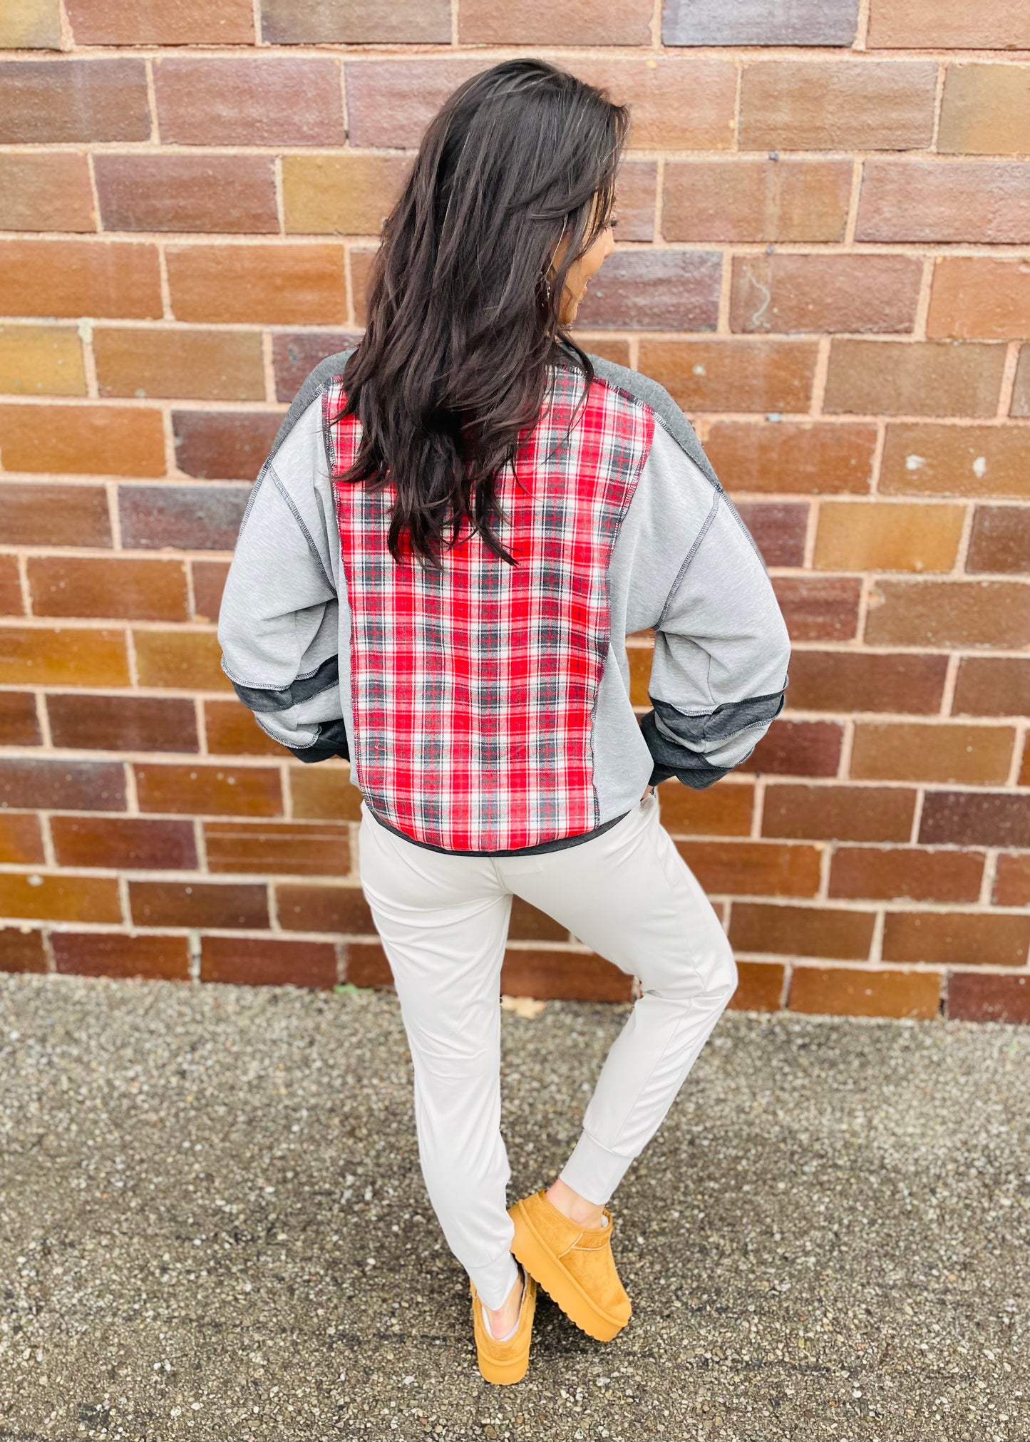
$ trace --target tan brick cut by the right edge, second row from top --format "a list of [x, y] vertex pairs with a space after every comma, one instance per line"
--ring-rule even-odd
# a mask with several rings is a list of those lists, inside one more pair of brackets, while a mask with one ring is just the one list
[[967, 156], [1030, 153], [1030, 66], [949, 65], [936, 149]]

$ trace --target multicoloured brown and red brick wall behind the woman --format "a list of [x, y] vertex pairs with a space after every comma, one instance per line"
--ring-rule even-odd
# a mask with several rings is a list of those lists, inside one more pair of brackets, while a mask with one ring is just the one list
[[[737, 1002], [1030, 1019], [1024, 0], [7, 0], [0, 45], [0, 965], [385, 979], [358, 793], [235, 702], [219, 588], [427, 117], [540, 53], [635, 115], [581, 339], [695, 421], [795, 643], [752, 758], [662, 787]], [[628, 995], [518, 903], [503, 985]]]

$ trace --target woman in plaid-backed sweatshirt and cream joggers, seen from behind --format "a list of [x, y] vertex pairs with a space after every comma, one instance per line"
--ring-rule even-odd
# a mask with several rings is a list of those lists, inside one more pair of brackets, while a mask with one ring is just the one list
[[[726, 776], [788, 684], [766, 568], [694, 431], [568, 335], [613, 249], [628, 124], [532, 59], [450, 97], [384, 226], [361, 343], [309, 376], [261, 469], [219, 622], [264, 730], [351, 760], [426, 1187], [496, 1383], [527, 1371], [537, 1285], [591, 1337], [630, 1317], [606, 1204], [737, 982], [655, 786]], [[625, 637], [645, 627], [638, 722]], [[642, 995], [560, 1177], [508, 1210], [514, 895]]]

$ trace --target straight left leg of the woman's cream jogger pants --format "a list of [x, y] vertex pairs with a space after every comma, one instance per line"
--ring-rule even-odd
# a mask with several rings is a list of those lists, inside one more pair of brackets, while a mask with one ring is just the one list
[[361, 881], [389, 960], [415, 1079], [426, 1188], [490, 1309], [518, 1280], [501, 1136], [501, 963], [511, 893], [483, 857], [394, 836], [362, 806]]

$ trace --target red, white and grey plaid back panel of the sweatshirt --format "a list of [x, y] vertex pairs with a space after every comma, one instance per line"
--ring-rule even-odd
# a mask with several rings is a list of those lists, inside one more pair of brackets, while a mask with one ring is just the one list
[[[593, 831], [591, 725], [609, 647], [607, 565], [653, 437], [649, 407], [554, 368], [535, 428], [499, 477], [495, 557], [467, 519], [443, 572], [387, 548], [392, 485], [335, 485], [351, 604], [351, 764], [369, 808], [414, 841], [506, 851]], [[333, 476], [361, 438], [332, 425]], [[404, 534], [407, 544], [407, 532]], [[410, 555], [410, 549], [407, 551]]]

